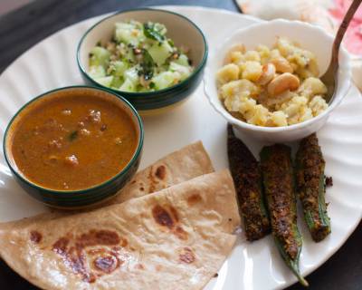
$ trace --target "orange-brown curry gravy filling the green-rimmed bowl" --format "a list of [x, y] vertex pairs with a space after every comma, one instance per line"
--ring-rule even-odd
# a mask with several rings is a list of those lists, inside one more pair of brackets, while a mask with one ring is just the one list
[[11, 147], [27, 179], [48, 189], [87, 189], [129, 163], [138, 134], [116, 102], [81, 92], [37, 102], [24, 109]]

